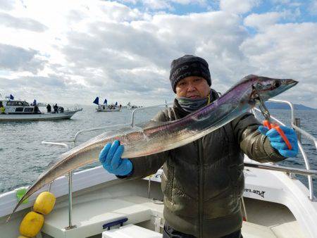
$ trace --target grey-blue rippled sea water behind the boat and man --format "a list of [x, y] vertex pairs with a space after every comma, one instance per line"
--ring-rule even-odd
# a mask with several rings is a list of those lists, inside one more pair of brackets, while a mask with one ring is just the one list
[[[0, 123], [0, 194], [18, 187], [32, 184], [51, 163], [58, 160], [58, 156], [68, 151], [63, 146], [42, 144], [43, 141], [56, 139], [71, 139], [76, 132], [93, 127], [106, 127], [117, 124], [130, 124], [132, 110], [123, 108], [120, 112], [96, 112], [94, 106], [82, 106], [83, 111], [76, 113], [70, 120], [51, 120], [33, 122]], [[64, 107], [67, 109], [67, 107]], [[45, 111], [45, 108], [40, 108]], [[135, 111], [135, 123], [150, 120], [162, 107], [139, 108]], [[290, 111], [271, 110], [271, 114], [290, 125]], [[296, 117], [301, 118], [302, 128], [317, 137], [317, 111], [297, 111]], [[77, 144], [85, 142], [97, 134], [109, 130], [85, 132], [78, 136]], [[69, 148], [73, 143], [67, 143]], [[302, 137], [302, 144], [309, 157], [311, 169], [317, 169], [317, 152], [315, 146]], [[287, 158], [280, 165], [305, 168], [302, 155], [297, 158]], [[100, 164], [93, 163], [84, 168], [92, 168]], [[299, 176], [307, 186], [307, 179]], [[317, 191], [317, 180], [313, 179], [313, 186]], [[316, 193], [315, 193], [316, 194]]]

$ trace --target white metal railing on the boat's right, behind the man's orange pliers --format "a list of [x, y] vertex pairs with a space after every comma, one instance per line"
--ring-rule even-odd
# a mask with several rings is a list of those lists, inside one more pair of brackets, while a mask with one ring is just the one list
[[[315, 137], [313, 137], [313, 135], [309, 134], [309, 132], [306, 132], [305, 130], [303, 130], [301, 127], [297, 126], [297, 118], [295, 118], [295, 108], [294, 105], [290, 102], [290, 101], [284, 101], [284, 100], [277, 100], [277, 99], [269, 99], [268, 101], [273, 101], [275, 103], [279, 103], [279, 104], [287, 104], [288, 106], [290, 106], [291, 109], [291, 126], [292, 128], [301, 135], [304, 135], [306, 138], [310, 139], [311, 141], [313, 141], [313, 144], [315, 145], [315, 148], [317, 150], [317, 139]], [[253, 108], [252, 109], [255, 117], [256, 116], [256, 111], [259, 111], [259, 108]], [[280, 125], [285, 125], [284, 123], [282, 123], [280, 120], [278, 120], [277, 118], [275, 118], [274, 116], [271, 115], [271, 118], [273, 120], [275, 120], [277, 123], [279, 123]], [[309, 158], [306, 154], [306, 152], [304, 151], [304, 147], [302, 146], [302, 142], [300, 142], [300, 140], [297, 141], [297, 144], [299, 146], [299, 151], [301, 152], [303, 158], [304, 158], [304, 163], [305, 163], [305, 168], [306, 170], [311, 170], [311, 165], [309, 164]], [[295, 173], [295, 174], [299, 174], [299, 173]], [[290, 172], [290, 176], [292, 176], [292, 173]], [[314, 196], [314, 192], [313, 192], [313, 179], [311, 177], [311, 175], [307, 175], [307, 180], [308, 180], [308, 184], [309, 184], [309, 199], [311, 201], [317, 201], [315, 196]]]

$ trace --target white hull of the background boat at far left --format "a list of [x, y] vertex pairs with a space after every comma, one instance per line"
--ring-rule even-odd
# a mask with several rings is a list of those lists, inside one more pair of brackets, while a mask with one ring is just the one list
[[70, 119], [77, 111], [82, 111], [82, 109], [63, 113], [0, 114], [0, 121], [63, 120]]

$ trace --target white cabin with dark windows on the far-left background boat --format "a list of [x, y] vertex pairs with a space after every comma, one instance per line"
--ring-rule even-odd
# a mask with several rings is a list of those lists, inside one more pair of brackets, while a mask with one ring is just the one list
[[[1, 105], [5, 108], [6, 114], [31, 114], [35, 113], [34, 106], [30, 106], [26, 101], [1, 99]], [[39, 111], [38, 111], [39, 112]]]

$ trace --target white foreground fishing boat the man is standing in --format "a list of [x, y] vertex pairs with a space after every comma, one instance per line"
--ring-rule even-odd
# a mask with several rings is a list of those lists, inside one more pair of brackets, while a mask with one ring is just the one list
[[[316, 138], [297, 125], [294, 107], [290, 102], [271, 101], [290, 105], [292, 127], [317, 146]], [[147, 108], [135, 109], [131, 124], [120, 126], [135, 126], [134, 116], [143, 110]], [[277, 118], [273, 119], [283, 125]], [[72, 139], [44, 143], [68, 147], [69, 142], [77, 144], [80, 134], [113, 130], [114, 127], [82, 130]], [[243, 237], [316, 237], [317, 201], [312, 176], [317, 173], [310, 169], [301, 142], [299, 149], [306, 169], [256, 163], [245, 156]], [[307, 177], [308, 187], [295, 177], [297, 174]], [[156, 174], [143, 180], [118, 180], [101, 166], [69, 173], [32, 194], [8, 223], [6, 218], [17, 203], [18, 190], [0, 194], [1, 237], [18, 237], [21, 220], [31, 210], [37, 195], [43, 191], [50, 191], [56, 196], [56, 205], [49, 215], [44, 216], [44, 225], [38, 237], [162, 237], [161, 175], [162, 170], [159, 169]]]

